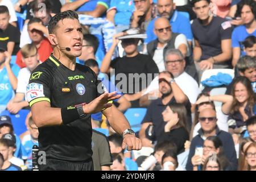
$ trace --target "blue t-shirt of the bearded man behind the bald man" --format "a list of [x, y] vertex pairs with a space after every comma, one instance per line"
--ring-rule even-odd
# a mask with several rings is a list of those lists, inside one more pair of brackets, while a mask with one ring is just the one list
[[[154, 34], [154, 23], [157, 18], [153, 19], [147, 27], [146, 34], [147, 39], [145, 39], [144, 43], [149, 43], [152, 40], [155, 40], [157, 37]], [[174, 11], [174, 14], [172, 15], [172, 18], [170, 20], [170, 24], [172, 26], [172, 32], [178, 33], [178, 34], [184, 34], [188, 41], [192, 41], [193, 34], [191, 30], [191, 24], [189, 22], [189, 18], [184, 16], [179, 11]]]

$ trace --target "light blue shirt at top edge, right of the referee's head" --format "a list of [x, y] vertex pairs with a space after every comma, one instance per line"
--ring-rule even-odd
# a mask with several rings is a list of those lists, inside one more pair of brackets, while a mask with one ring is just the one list
[[130, 18], [135, 10], [135, 6], [132, 0], [111, 0], [110, 9], [115, 8], [117, 12], [114, 16], [115, 24], [130, 24]]

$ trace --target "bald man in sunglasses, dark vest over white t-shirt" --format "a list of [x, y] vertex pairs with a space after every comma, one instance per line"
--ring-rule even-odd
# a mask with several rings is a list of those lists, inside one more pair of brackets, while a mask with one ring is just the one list
[[165, 71], [164, 55], [167, 49], [179, 49], [183, 56], [189, 56], [189, 46], [183, 34], [175, 34], [171, 30], [171, 25], [165, 17], [155, 20], [154, 33], [157, 39], [147, 44], [147, 54], [152, 57], [159, 72]]

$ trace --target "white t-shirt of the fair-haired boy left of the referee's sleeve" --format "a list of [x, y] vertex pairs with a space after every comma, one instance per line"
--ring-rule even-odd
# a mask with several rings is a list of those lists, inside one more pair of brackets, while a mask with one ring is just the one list
[[16, 93], [23, 93], [25, 96], [25, 100], [27, 101], [27, 84], [30, 81], [31, 72], [28, 68], [22, 68], [19, 71], [18, 75], [18, 85], [16, 89]]

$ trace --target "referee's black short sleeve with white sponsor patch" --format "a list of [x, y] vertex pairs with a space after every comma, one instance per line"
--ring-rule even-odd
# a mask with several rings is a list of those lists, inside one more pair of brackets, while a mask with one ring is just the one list
[[27, 85], [27, 101], [30, 107], [36, 102], [50, 101], [52, 77], [47, 69], [40, 67], [31, 73], [29, 84]]

